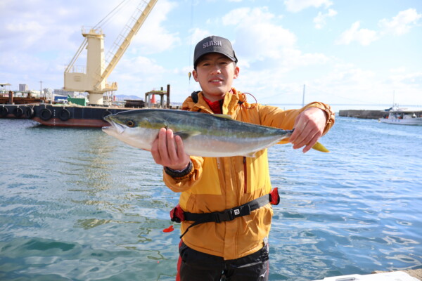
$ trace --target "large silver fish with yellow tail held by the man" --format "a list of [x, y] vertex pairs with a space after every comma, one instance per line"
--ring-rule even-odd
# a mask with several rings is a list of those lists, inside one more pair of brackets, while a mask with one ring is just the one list
[[[236, 121], [226, 115], [184, 110], [128, 110], [105, 117], [111, 126], [103, 131], [135, 148], [151, 150], [161, 128], [180, 136], [188, 155], [202, 157], [253, 157], [255, 152], [280, 141], [288, 143], [293, 130], [286, 131]], [[328, 152], [320, 143], [315, 150]]]

